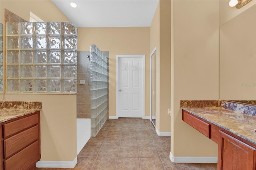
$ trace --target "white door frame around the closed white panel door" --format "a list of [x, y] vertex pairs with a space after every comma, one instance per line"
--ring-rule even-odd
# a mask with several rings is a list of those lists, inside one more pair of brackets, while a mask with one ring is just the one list
[[137, 57], [142, 58], [142, 119], [145, 119], [145, 55], [116, 55], [116, 119], [119, 118], [118, 115], [118, 61], [120, 58], [124, 57]]

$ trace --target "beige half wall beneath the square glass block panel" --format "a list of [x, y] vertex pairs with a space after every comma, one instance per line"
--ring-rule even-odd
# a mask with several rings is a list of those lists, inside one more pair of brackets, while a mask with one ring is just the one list
[[41, 101], [41, 160], [76, 157], [76, 95], [5, 94], [6, 101]]

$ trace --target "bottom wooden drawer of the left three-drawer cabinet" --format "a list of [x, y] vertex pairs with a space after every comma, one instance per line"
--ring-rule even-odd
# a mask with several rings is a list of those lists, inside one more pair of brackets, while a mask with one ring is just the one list
[[14, 156], [4, 161], [5, 170], [28, 170], [39, 159], [39, 143], [32, 143]]

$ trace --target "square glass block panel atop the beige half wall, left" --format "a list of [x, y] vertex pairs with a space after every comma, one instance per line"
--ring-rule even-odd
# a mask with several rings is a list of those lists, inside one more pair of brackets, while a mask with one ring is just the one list
[[77, 92], [74, 24], [9, 22], [6, 34], [7, 92]]

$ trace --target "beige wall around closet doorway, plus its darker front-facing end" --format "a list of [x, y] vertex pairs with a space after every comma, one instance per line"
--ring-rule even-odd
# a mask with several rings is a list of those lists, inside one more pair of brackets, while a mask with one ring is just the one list
[[156, 47], [156, 128], [170, 132], [171, 1], [158, 3], [150, 26], [150, 52]]

